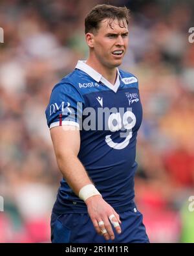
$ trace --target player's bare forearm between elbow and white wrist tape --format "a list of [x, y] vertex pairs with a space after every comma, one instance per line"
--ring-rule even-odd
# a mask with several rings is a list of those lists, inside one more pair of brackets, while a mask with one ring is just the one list
[[57, 162], [65, 180], [77, 195], [82, 187], [92, 184], [85, 168], [73, 152], [57, 156]]

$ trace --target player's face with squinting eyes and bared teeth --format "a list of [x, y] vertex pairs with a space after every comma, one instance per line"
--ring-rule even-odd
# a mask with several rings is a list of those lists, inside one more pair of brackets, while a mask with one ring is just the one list
[[115, 19], [110, 26], [109, 19], [104, 19], [93, 35], [94, 54], [104, 67], [114, 68], [122, 64], [129, 38], [127, 23], [124, 20], [121, 24], [125, 27], [120, 27]]

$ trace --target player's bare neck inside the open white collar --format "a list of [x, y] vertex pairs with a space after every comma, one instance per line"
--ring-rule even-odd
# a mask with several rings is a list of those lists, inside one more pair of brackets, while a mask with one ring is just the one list
[[103, 66], [98, 61], [91, 60], [90, 58], [86, 61], [86, 64], [92, 67], [95, 71], [100, 73], [106, 80], [108, 80], [111, 84], [115, 84], [116, 76], [117, 76], [117, 69], [114, 67], [110, 69], [108, 67]]

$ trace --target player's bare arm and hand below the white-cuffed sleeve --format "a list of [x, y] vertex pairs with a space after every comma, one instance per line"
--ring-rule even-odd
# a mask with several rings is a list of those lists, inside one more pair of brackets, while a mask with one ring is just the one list
[[[80, 131], [69, 129], [70, 126], [56, 126], [50, 129], [52, 143], [59, 170], [63, 177], [71, 187], [72, 191], [79, 196], [80, 190], [85, 185], [92, 184], [91, 179], [78, 159], [80, 150]], [[114, 211], [111, 205], [103, 200], [101, 195], [90, 196], [85, 200], [89, 216], [97, 233], [101, 233], [102, 229], [106, 229], [107, 233], [103, 236], [105, 239], [114, 239], [113, 228], [111, 226], [109, 216], [114, 215], [114, 222], [120, 222], [119, 215]], [[104, 226], [99, 226], [98, 222], [103, 221]], [[121, 232], [120, 226], [115, 227], [117, 233]]]

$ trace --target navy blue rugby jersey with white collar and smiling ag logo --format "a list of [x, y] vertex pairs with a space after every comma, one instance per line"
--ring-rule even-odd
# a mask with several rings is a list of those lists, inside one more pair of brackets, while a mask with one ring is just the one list
[[[79, 127], [78, 158], [96, 189], [116, 211], [129, 209], [135, 197], [136, 136], [142, 122], [137, 78], [117, 69], [113, 86], [78, 61], [74, 71], [52, 89], [45, 113], [49, 128], [68, 124]], [[53, 211], [87, 213], [87, 206], [64, 178]]]

